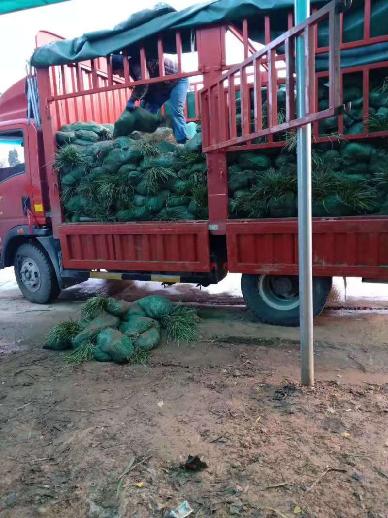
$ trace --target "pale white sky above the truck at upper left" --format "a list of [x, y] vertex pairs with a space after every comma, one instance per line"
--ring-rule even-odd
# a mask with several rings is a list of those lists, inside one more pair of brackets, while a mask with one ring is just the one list
[[[71, 0], [36, 9], [0, 16], [0, 93], [25, 75], [25, 60], [35, 48], [39, 31], [50, 31], [65, 38], [85, 32], [112, 28], [133, 12], [153, 8], [158, 0]], [[198, 0], [167, 0], [181, 10]]]

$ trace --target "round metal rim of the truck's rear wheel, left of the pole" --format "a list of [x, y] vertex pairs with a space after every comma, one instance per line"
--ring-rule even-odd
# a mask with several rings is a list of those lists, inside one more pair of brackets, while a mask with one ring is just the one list
[[258, 290], [267, 306], [278, 311], [299, 307], [299, 281], [297, 277], [261, 275]]

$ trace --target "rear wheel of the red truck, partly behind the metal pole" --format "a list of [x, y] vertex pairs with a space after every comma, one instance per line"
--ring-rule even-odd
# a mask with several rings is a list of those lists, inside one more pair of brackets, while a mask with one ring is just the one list
[[[332, 289], [331, 277], [312, 279], [312, 309], [319, 315]], [[248, 308], [266, 324], [299, 326], [299, 277], [248, 275], [241, 277], [241, 291]]]

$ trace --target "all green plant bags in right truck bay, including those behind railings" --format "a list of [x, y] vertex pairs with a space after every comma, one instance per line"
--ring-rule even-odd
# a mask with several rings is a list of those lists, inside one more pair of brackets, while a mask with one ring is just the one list
[[[337, 117], [319, 124], [319, 136], [330, 142], [313, 143], [312, 213], [345, 216], [388, 213], [388, 146], [386, 138], [347, 140], [363, 133], [362, 75], [344, 76], [344, 137]], [[329, 107], [329, 89], [319, 84], [319, 109]], [[278, 91], [278, 122], [285, 114], [285, 90]], [[236, 102], [240, 109], [240, 100]], [[266, 126], [263, 91], [263, 127]], [[252, 114], [253, 118], [253, 114]], [[241, 124], [241, 118], [237, 120]], [[240, 130], [241, 126], [237, 127]], [[367, 132], [388, 131], [388, 81], [371, 74]], [[286, 218], [297, 215], [296, 133], [274, 135], [285, 148], [241, 152], [229, 156], [229, 218]], [[262, 139], [264, 143], [265, 140]], [[257, 142], [260, 143], [260, 142]]]

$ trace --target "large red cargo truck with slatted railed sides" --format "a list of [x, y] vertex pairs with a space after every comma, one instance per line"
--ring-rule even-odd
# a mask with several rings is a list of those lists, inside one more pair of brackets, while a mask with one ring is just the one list
[[[178, 73], [171, 78], [197, 78], [195, 84], [196, 117], [201, 118], [203, 151], [208, 177], [207, 221], [150, 223], [67, 223], [60, 203], [60, 185], [52, 167], [55, 132], [63, 124], [76, 121], [110, 122], [120, 116], [131, 89], [136, 84], [129, 69], [124, 78], [113, 75], [108, 55], [89, 60], [68, 60], [61, 64], [37, 67], [34, 77], [14, 84], [0, 97], [0, 146], [16, 148], [20, 163], [0, 166], [0, 268], [14, 266], [23, 295], [34, 303], [46, 304], [61, 290], [89, 278], [153, 280], [166, 283], [191, 282], [202, 286], [217, 283], [228, 272], [242, 274], [242, 293], [247, 306], [264, 322], [281, 325], [299, 324], [299, 284], [297, 220], [231, 220], [228, 215], [227, 154], [245, 150], [279, 148], [284, 142], [274, 138], [280, 131], [338, 116], [338, 132], [343, 131], [340, 112], [341, 84], [344, 75], [363, 75], [362, 134], [347, 135], [348, 140], [386, 138], [388, 132], [369, 134], [369, 74], [388, 67], [388, 61], [374, 61], [339, 70], [339, 49], [359, 51], [368, 46], [388, 45], [388, 34], [371, 34], [373, 3], [365, 0], [363, 34], [344, 41], [344, 15], [341, 0], [326, 4], [304, 24], [293, 27], [292, 10], [287, 13], [288, 31], [272, 40], [272, 22], [277, 12], [258, 9], [257, 20], [263, 26], [265, 47], [252, 48], [249, 39], [251, 20], [218, 23], [191, 29], [169, 26], [157, 34], [160, 64], [163, 41], [175, 40]], [[243, 11], [242, 11], [243, 12]], [[198, 14], [198, 13], [197, 13]], [[194, 15], [193, 15], [194, 16]], [[318, 46], [317, 27], [329, 20], [329, 39]], [[225, 37], [229, 31], [243, 46], [244, 61], [226, 64]], [[196, 39], [198, 69], [184, 72], [182, 54], [185, 38]], [[306, 51], [306, 116], [295, 116], [294, 40], [304, 35]], [[37, 47], [61, 38], [39, 33]], [[132, 38], [133, 39], [133, 38]], [[155, 40], [155, 35], [154, 35]], [[146, 41], [137, 42], [143, 70]], [[126, 53], [126, 49], [123, 48]], [[320, 56], [329, 56], [329, 67], [316, 71]], [[163, 66], [160, 66], [163, 74]], [[198, 76], [199, 77], [198, 79]], [[330, 103], [318, 108], [318, 81], [327, 78]], [[198, 89], [199, 82], [203, 85]], [[279, 85], [285, 83], [287, 120], [277, 119]], [[268, 124], [262, 125], [263, 88], [268, 97]], [[253, 90], [251, 94], [250, 91]], [[29, 92], [27, 102], [26, 92]], [[240, 91], [242, 134], [237, 136], [235, 98]], [[35, 93], [35, 95], [34, 95]], [[253, 98], [254, 106], [250, 106]], [[34, 110], [35, 105], [35, 110]], [[249, 121], [255, 110], [255, 127]], [[39, 120], [40, 119], [40, 120]], [[318, 135], [317, 133], [315, 133]], [[266, 136], [263, 144], [255, 139]], [[328, 141], [329, 137], [316, 137]], [[2, 156], [2, 155], [0, 155]], [[24, 159], [23, 159], [24, 157]], [[333, 276], [362, 277], [363, 280], [388, 280], [388, 217], [353, 216], [314, 218], [314, 312], [324, 308]]]

